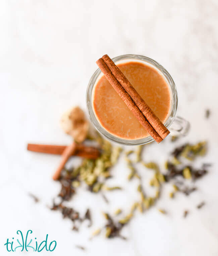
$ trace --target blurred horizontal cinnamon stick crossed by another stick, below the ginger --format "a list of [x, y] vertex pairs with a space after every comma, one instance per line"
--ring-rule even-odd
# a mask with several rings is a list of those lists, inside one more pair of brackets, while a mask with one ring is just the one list
[[[60, 145], [43, 145], [43, 144], [28, 144], [27, 149], [29, 151], [61, 155], [67, 146]], [[83, 144], [77, 144], [75, 156], [81, 156], [89, 159], [97, 159], [100, 155], [100, 151], [96, 147], [90, 147]]]

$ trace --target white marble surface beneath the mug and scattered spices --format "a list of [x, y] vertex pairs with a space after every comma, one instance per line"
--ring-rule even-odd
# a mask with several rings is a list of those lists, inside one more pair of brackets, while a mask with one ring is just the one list
[[[1, 1], [1, 255], [6, 255], [6, 238], [17, 229], [32, 229], [39, 240], [48, 233], [49, 240], [57, 241], [53, 255], [218, 255], [217, 13], [216, 0]], [[166, 188], [156, 207], [137, 214], [123, 229], [128, 241], [103, 235], [88, 240], [91, 230], [104, 223], [101, 211], [113, 212], [117, 206], [127, 211], [137, 197], [136, 183], [126, 182], [128, 170], [122, 162], [110, 182], [124, 190], [106, 194], [113, 204], [79, 190], [71, 204], [81, 212], [90, 207], [94, 224], [88, 229], [84, 223], [76, 233], [69, 221], [46, 208], [59, 189], [51, 180], [59, 157], [26, 151], [28, 142], [69, 143], [59, 126], [60, 115], [75, 104], [85, 109], [95, 61], [105, 53], [143, 54], [169, 71], [178, 89], [178, 114], [192, 125], [176, 144], [206, 139], [209, 152], [196, 164], [213, 162], [209, 175], [197, 183], [198, 192], [170, 200]], [[206, 108], [211, 116], [205, 122]], [[151, 145], [143, 157], [162, 163], [172, 147], [169, 140]], [[149, 174], [140, 172], [146, 184]], [[28, 192], [41, 202], [34, 204]], [[202, 200], [206, 206], [198, 211]], [[158, 207], [168, 215], [159, 214]], [[184, 209], [190, 211], [186, 219]], [[76, 249], [76, 244], [87, 251]]]

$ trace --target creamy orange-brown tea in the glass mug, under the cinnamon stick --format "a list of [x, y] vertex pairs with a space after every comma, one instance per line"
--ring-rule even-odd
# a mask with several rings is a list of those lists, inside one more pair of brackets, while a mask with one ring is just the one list
[[[157, 117], [165, 123], [171, 106], [171, 90], [163, 75], [155, 67], [137, 61], [117, 66]], [[97, 81], [93, 90], [93, 109], [104, 129], [116, 137], [128, 140], [149, 136], [105, 76]]]

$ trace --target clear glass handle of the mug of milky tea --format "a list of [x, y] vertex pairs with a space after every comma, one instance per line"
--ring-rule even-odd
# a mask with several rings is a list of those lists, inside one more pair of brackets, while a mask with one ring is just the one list
[[190, 128], [190, 123], [180, 116], [176, 116], [169, 127], [172, 136], [185, 136]]

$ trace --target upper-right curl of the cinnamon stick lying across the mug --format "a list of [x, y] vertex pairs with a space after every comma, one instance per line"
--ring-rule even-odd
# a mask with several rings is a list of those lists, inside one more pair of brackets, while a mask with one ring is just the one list
[[121, 86], [125, 89], [125, 91], [129, 94], [133, 102], [137, 105], [140, 111], [143, 113], [145, 118], [151, 124], [151, 126], [155, 129], [155, 131], [160, 135], [162, 139], [164, 139], [170, 132], [161, 122], [161, 120], [155, 115], [152, 109], [146, 104], [143, 98], [138, 94], [135, 88], [131, 85], [128, 79], [124, 76], [121, 70], [115, 65], [115, 63], [110, 59], [110, 57], [105, 54], [102, 59], [107, 64], [111, 73], [117, 79], [117, 81], [121, 84]]

